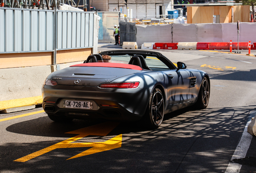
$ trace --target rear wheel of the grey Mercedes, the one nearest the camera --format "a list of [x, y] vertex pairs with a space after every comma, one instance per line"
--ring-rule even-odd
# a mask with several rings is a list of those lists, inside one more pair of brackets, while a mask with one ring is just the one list
[[150, 96], [149, 104], [143, 121], [147, 127], [157, 129], [163, 122], [164, 116], [164, 99], [160, 89], [154, 89]]

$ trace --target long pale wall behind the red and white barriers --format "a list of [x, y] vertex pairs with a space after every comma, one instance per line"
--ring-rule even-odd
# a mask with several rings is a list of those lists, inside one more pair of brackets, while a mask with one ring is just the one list
[[[136, 30], [138, 46], [144, 42], [237, 41], [236, 23], [136, 25]], [[239, 41], [256, 42], [256, 34], [252, 34], [254, 30], [256, 30], [256, 23], [240, 23]]]

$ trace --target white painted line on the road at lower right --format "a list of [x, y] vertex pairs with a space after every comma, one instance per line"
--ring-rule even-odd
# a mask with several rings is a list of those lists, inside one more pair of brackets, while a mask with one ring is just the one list
[[[248, 151], [248, 148], [250, 147], [250, 143], [252, 140], [252, 135], [250, 133], [248, 133], [247, 129], [248, 129], [248, 125], [251, 123], [252, 117], [255, 113], [256, 113], [256, 111], [253, 111], [252, 113], [250, 113], [249, 121], [247, 122], [246, 127], [244, 128], [243, 135], [235, 149], [235, 152], [234, 152], [231, 160], [242, 159], [242, 158], [246, 157], [246, 153]], [[229, 163], [225, 173], [239, 173], [241, 167], [242, 167], [242, 165], [240, 165], [238, 163]]]

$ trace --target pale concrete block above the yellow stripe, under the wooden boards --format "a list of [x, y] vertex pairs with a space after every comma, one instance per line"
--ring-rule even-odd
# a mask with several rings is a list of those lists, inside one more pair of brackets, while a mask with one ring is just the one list
[[50, 65], [0, 69], [0, 101], [42, 95], [42, 84], [51, 72]]

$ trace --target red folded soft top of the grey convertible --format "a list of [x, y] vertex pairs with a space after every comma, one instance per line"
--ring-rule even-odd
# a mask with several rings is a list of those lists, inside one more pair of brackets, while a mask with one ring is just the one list
[[140, 66], [136, 66], [132, 64], [111, 63], [111, 62], [90, 62], [90, 63], [76, 64], [72, 66], [96, 66], [96, 67], [113, 67], [113, 68], [128, 68], [133, 70], [142, 70]]

